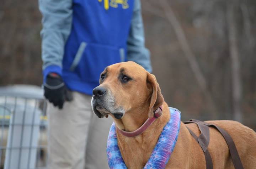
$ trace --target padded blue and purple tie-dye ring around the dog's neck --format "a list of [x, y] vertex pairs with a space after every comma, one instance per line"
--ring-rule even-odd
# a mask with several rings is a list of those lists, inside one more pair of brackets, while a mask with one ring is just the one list
[[[176, 108], [170, 107], [171, 118], [164, 126], [156, 146], [144, 169], [163, 169], [174, 150], [180, 131], [181, 114]], [[108, 165], [111, 169], [127, 169], [117, 145], [116, 126], [113, 123], [107, 141]]]

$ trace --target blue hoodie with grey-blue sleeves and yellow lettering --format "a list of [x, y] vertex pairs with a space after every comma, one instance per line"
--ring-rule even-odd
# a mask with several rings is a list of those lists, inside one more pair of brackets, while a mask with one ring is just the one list
[[44, 80], [55, 72], [70, 90], [92, 94], [110, 64], [151, 71], [139, 0], [39, 0], [39, 9]]

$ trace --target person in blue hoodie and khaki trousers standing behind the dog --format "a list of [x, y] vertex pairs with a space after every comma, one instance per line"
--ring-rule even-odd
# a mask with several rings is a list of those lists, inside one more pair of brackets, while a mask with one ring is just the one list
[[39, 0], [48, 169], [108, 168], [111, 118], [92, 116], [103, 69], [134, 61], [151, 71], [139, 0]]

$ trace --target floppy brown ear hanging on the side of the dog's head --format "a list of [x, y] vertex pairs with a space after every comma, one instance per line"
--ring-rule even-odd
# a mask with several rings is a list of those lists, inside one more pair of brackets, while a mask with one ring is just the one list
[[147, 74], [147, 84], [151, 85], [153, 88], [151, 98], [150, 98], [150, 105], [149, 105], [149, 114], [148, 117], [152, 118], [154, 116], [153, 111], [157, 109], [164, 103], [164, 97], [161, 94], [161, 89], [159, 84], [156, 81], [155, 75]]

